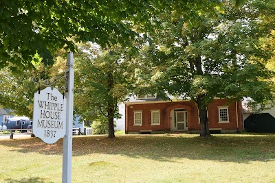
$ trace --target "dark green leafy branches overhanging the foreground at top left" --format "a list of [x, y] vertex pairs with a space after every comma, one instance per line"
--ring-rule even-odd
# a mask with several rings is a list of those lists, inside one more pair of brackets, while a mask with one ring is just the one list
[[[235, 0], [236, 4], [243, 0]], [[0, 1], [0, 68], [32, 67], [36, 55], [52, 64], [57, 49], [75, 51], [75, 42], [92, 41], [104, 47], [127, 45], [137, 32], [157, 27], [162, 9], [212, 12], [217, 0], [200, 1]], [[138, 26], [136, 26], [138, 25]], [[137, 28], [138, 27], [138, 28]], [[135, 31], [134, 31], [135, 30]], [[74, 42], [75, 41], [75, 42]]]

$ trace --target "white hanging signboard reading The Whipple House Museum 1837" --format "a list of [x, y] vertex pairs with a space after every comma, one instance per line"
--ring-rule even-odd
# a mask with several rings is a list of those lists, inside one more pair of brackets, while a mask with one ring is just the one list
[[67, 100], [56, 88], [34, 93], [33, 134], [48, 144], [66, 134]]

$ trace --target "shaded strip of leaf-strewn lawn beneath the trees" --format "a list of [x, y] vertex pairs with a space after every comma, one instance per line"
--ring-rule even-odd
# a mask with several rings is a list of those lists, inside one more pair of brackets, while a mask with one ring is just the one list
[[[274, 161], [275, 134], [212, 135], [201, 138], [191, 134], [74, 136], [73, 156], [113, 154], [173, 162], [177, 158], [221, 162]], [[62, 154], [62, 139], [53, 145], [39, 138], [0, 141], [20, 153]]]

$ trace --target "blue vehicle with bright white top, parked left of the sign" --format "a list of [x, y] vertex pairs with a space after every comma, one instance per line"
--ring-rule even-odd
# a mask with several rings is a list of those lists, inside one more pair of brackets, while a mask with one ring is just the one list
[[7, 129], [27, 129], [30, 124], [30, 119], [28, 117], [12, 117], [7, 120], [5, 125]]

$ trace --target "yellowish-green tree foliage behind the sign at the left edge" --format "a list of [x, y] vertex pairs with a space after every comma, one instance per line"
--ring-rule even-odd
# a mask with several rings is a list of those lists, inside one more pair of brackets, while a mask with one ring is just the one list
[[[65, 62], [61, 55], [64, 50], [59, 50], [55, 56], [56, 62], [52, 66], [45, 66], [41, 61], [34, 64], [35, 69], [12, 72], [6, 66], [0, 69], [0, 105], [3, 108], [12, 109], [14, 114], [30, 117], [32, 119], [34, 93], [39, 88], [43, 90], [46, 86], [45, 80], [54, 82], [56, 78], [64, 76]], [[64, 80], [56, 82], [54, 87], [64, 86]]]

